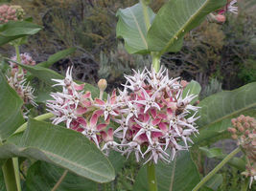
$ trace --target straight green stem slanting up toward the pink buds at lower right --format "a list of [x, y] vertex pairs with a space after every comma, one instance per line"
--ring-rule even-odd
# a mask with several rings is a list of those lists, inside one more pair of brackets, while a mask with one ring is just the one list
[[206, 181], [210, 180], [220, 169], [221, 167], [228, 162], [229, 159], [232, 159], [235, 155], [237, 155], [241, 151], [240, 147], [236, 148], [232, 151], [228, 156], [226, 156], [221, 163], [219, 163], [206, 177], [198, 182], [198, 185], [194, 187], [192, 191], [197, 191]]

